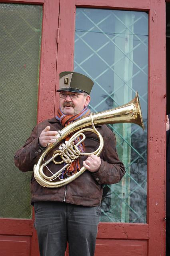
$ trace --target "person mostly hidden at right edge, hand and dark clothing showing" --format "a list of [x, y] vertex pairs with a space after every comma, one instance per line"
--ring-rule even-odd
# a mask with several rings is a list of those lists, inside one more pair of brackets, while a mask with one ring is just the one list
[[170, 115], [166, 116], [166, 256], [170, 256]]

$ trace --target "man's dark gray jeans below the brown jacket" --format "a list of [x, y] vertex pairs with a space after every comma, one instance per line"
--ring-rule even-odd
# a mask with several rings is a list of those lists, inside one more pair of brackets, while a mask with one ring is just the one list
[[35, 228], [40, 256], [94, 256], [100, 206], [35, 202]]

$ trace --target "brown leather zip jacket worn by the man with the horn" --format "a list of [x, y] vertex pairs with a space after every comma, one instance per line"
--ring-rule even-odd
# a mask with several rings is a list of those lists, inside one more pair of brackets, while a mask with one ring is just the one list
[[[42, 130], [48, 125], [51, 127], [51, 130], [58, 131], [63, 128], [56, 118], [45, 120], [35, 126], [25, 145], [16, 152], [14, 157], [15, 165], [22, 172], [32, 171], [34, 164], [38, 162], [40, 155], [44, 151], [38, 144], [38, 138]], [[96, 128], [104, 139], [104, 148], [100, 154], [102, 161], [100, 169], [95, 173], [86, 170], [76, 180], [59, 188], [44, 188], [32, 176], [32, 204], [36, 201], [64, 201], [84, 206], [100, 206], [103, 184], [119, 182], [125, 174], [125, 169], [122, 162], [118, 159], [114, 133], [105, 125], [98, 125]], [[85, 152], [93, 152], [98, 148], [98, 137], [91, 132], [86, 132], [85, 135]], [[82, 166], [82, 162], [86, 158], [87, 156], [79, 158], [80, 166]], [[48, 167], [55, 173], [56, 170], [61, 168], [61, 165], [59, 166], [51, 162]]]

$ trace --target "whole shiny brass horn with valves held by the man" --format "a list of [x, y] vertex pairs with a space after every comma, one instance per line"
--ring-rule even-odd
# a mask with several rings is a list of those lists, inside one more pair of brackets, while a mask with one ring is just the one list
[[[64, 186], [76, 178], [80, 176], [86, 168], [83, 166], [79, 172], [76, 174], [73, 174], [72, 176], [68, 176], [67, 178], [60, 179], [60, 174], [62, 171], [68, 167], [76, 158], [82, 156], [82, 155], [90, 155], [95, 154], [96, 156], [100, 155], [100, 152], [102, 151], [102, 148], [104, 146], [102, 135], [96, 130], [95, 124], [116, 124], [116, 123], [135, 123], [142, 127], [144, 130], [144, 124], [142, 120], [142, 113], [140, 108], [140, 102], [138, 98], [138, 93], [136, 92], [136, 96], [133, 100], [128, 102], [127, 104], [124, 104], [123, 106], [120, 106], [118, 108], [112, 108], [110, 110], [106, 110], [103, 112], [98, 113], [91, 113], [90, 116], [86, 116], [84, 118], [78, 119], [75, 122], [69, 124], [65, 128], [63, 128], [61, 131], [58, 131], [59, 134], [57, 135], [57, 140], [54, 142], [54, 144], [51, 144], [50, 147], [48, 147], [44, 153], [41, 155], [40, 159], [38, 160], [38, 163], [34, 165], [34, 177], [36, 181], [44, 187], [48, 188], [58, 188], [60, 186]], [[92, 126], [92, 128], [84, 128]], [[77, 131], [78, 130], [78, 131]], [[76, 132], [77, 131], [77, 132]], [[78, 145], [86, 138], [83, 132], [94, 132], [97, 134], [97, 136], [100, 139], [100, 145], [98, 149], [94, 152], [80, 152], [78, 150]], [[76, 133], [74, 133], [76, 132]], [[45, 156], [53, 149], [58, 146], [62, 140], [64, 140], [69, 134], [74, 135], [68, 140], [68, 142], [62, 143], [59, 146], [59, 150], [56, 150], [52, 157], [48, 160], [44, 160]], [[75, 144], [75, 140], [78, 137], [82, 137], [80, 142]], [[60, 156], [62, 158], [62, 161], [56, 162], [55, 158], [57, 156]], [[65, 166], [61, 168], [58, 172], [53, 174], [50, 169], [48, 168], [48, 164], [53, 161], [54, 164], [62, 164], [65, 162]], [[46, 167], [49, 172], [51, 172], [52, 176], [46, 176], [43, 172], [43, 168]], [[58, 180], [56, 180], [58, 178]], [[55, 181], [56, 180], [56, 181]]]

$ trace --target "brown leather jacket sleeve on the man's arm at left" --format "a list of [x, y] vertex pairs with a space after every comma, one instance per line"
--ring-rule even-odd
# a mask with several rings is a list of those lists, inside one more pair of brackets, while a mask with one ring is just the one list
[[44, 150], [45, 148], [41, 148], [38, 144], [37, 126], [35, 126], [25, 145], [14, 156], [16, 167], [22, 172], [33, 171], [34, 164], [36, 164]]

